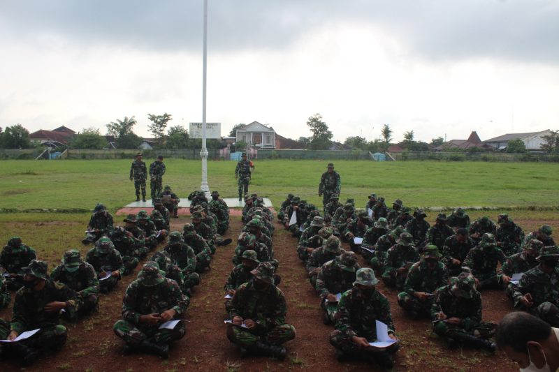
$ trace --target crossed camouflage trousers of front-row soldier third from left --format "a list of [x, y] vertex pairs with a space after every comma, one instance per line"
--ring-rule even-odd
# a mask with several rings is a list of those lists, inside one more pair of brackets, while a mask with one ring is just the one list
[[241, 346], [254, 345], [257, 341], [264, 341], [274, 345], [281, 345], [295, 338], [295, 327], [288, 324], [277, 325], [270, 331], [258, 332], [246, 328], [227, 325], [227, 338], [232, 343]]

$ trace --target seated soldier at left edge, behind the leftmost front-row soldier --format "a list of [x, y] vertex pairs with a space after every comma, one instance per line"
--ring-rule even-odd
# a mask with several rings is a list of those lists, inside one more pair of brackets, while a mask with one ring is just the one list
[[0, 254], [0, 272], [6, 277], [9, 290], [18, 290], [22, 287], [22, 269], [36, 258], [35, 250], [23, 244], [22, 238], [10, 237]]

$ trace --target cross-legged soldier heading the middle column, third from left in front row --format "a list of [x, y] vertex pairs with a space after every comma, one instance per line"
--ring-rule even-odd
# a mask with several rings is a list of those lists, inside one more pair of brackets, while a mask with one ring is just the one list
[[286, 341], [295, 338], [295, 328], [286, 324], [284, 294], [274, 285], [274, 268], [260, 262], [251, 271], [254, 278], [240, 285], [233, 296], [227, 338], [240, 345], [243, 354], [283, 359]]

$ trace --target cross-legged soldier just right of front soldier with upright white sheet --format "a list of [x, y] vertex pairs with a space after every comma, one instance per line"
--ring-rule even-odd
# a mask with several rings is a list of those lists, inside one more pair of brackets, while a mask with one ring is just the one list
[[468, 345], [494, 352], [495, 343], [487, 340], [495, 334], [497, 325], [481, 321], [481, 294], [475, 289], [474, 278], [463, 272], [451, 283], [437, 290], [431, 308], [433, 331], [455, 345]]

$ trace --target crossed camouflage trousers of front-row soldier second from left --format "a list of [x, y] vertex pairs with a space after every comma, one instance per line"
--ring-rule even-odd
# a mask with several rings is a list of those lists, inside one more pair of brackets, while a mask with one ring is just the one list
[[125, 343], [138, 346], [148, 338], [153, 338], [156, 343], [170, 343], [180, 340], [187, 333], [187, 326], [184, 322], [178, 322], [174, 329], [159, 329], [159, 325], [134, 325], [126, 320], [119, 320], [112, 327], [112, 330]]

